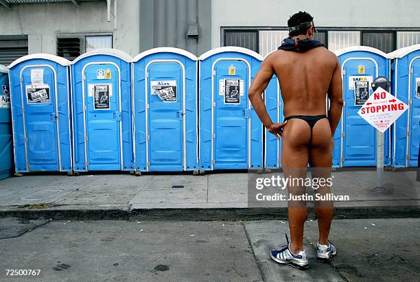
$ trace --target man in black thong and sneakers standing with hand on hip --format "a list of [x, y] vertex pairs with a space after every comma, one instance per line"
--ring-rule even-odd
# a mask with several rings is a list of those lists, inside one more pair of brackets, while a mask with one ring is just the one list
[[[267, 130], [277, 138], [283, 137], [281, 165], [285, 177], [306, 178], [307, 164], [312, 177], [331, 176], [334, 132], [342, 110], [342, 78], [340, 63], [334, 53], [313, 40], [314, 21], [307, 12], [294, 14], [288, 20], [289, 38], [279, 50], [272, 52], [262, 63], [249, 89], [249, 99]], [[267, 113], [261, 93], [273, 74], [281, 87], [284, 122], [274, 124]], [[331, 106], [326, 115], [325, 99]], [[305, 187], [292, 187], [292, 194], [303, 194]], [[329, 193], [329, 187], [320, 187], [316, 193]], [[333, 216], [331, 201], [314, 202], [318, 218], [319, 239], [316, 246], [318, 261], [329, 261], [336, 248], [328, 241]], [[296, 268], [309, 267], [303, 250], [303, 225], [307, 219], [306, 202], [288, 203], [291, 242], [281, 250], [272, 250], [270, 256], [278, 263]], [[287, 235], [286, 235], [286, 239]]]

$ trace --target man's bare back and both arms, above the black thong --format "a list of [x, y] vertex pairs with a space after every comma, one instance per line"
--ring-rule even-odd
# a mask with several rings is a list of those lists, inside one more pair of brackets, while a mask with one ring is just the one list
[[279, 80], [285, 117], [326, 115], [328, 95], [331, 102], [328, 121], [332, 141], [342, 108], [342, 78], [337, 56], [325, 47], [304, 53], [277, 50], [267, 56], [248, 95], [264, 126], [277, 136], [282, 133], [285, 124], [272, 123], [261, 98], [273, 74]]

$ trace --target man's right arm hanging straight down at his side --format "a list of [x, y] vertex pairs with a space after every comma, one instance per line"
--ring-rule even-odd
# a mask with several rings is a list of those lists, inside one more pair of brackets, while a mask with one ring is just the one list
[[328, 97], [330, 102], [328, 115], [329, 127], [331, 128], [331, 136], [334, 137], [334, 132], [336, 132], [336, 128], [340, 122], [343, 105], [342, 78], [340, 62], [338, 62], [338, 58], [336, 58], [336, 69], [334, 69], [334, 73], [329, 84]]

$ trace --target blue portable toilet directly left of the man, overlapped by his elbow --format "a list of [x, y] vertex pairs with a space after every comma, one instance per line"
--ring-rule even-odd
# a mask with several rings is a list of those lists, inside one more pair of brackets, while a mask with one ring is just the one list
[[200, 170], [262, 169], [262, 124], [248, 99], [263, 58], [242, 47], [199, 57]]

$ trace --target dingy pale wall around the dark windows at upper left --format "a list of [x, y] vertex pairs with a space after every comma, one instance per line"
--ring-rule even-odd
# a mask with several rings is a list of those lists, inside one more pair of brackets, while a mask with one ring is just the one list
[[25, 34], [29, 53], [56, 55], [57, 34], [113, 32], [113, 47], [131, 56], [139, 54], [139, 1], [117, 1], [117, 30], [107, 21], [106, 1], [19, 4], [0, 6], [0, 36]]

